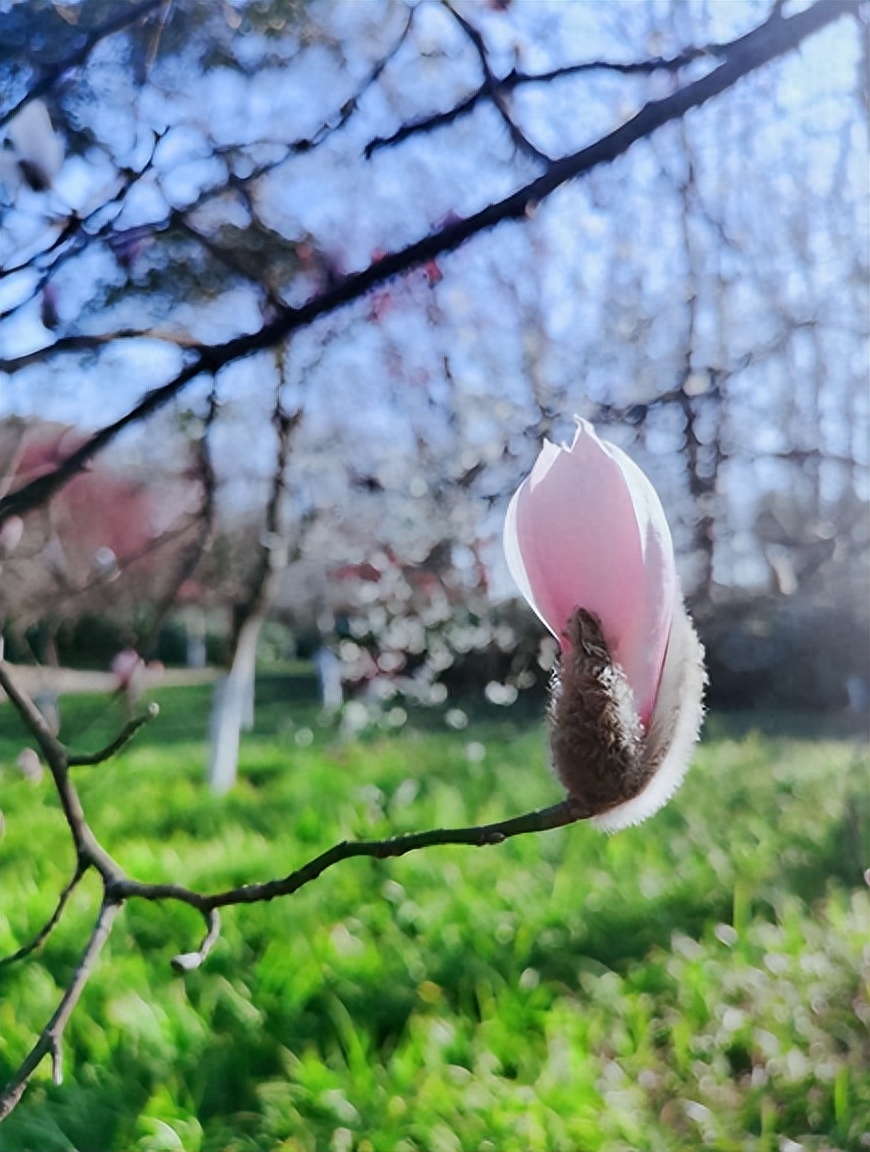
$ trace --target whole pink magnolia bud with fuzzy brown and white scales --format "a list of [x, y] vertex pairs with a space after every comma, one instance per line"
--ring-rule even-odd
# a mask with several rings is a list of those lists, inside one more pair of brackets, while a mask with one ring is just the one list
[[655, 488], [578, 420], [570, 448], [545, 441], [514, 494], [505, 554], [561, 645], [550, 710], [560, 780], [608, 832], [644, 820], [688, 768], [706, 682]]

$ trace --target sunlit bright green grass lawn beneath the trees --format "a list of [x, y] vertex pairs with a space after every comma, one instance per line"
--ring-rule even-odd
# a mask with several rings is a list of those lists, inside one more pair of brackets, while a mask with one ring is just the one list
[[[240, 782], [203, 781], [207, 688], [157, 692], [122, 756], [77, 771], [139, 879], [282, 876], [336, 840], [553, 803], [534, 714], [440, 714], [348, 742], [313, 684], [260, 684]], [[65, 699], [63, 735], [119, 715]], [[394, 718], [395, 719], [395, 718]], [[800, 728], [800, 734], [796, 734]], [[0, 706], [0, 953], [71, 874], [47, 776]], [[870, 1114], [863, 741], [805, 718], [713, 717], [678, 797], [607, 839], [582, 825], [498, 847], [348, 861], [293, 897], [201, 919], [131, 903], [66, 1033], [0, 1129], [3, 1152], [862, 1150]], [[96, 915], [92, 879], [38, 957], [5, 970], [0, 1079], [53, 1011]]]

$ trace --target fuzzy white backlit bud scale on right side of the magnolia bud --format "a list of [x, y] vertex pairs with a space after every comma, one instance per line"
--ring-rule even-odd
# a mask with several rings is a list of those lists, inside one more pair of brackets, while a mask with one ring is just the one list
[[661, 672], [656, 708], [648, 740], [669, 740], [669, 748], [658, 771], [644, 790], [633, 799], [591, 819], [602, 832], [619, 832], [641, 824], [671, 799], [682, 783], [704, 719], [704, 649], [676, 597], [667, 655]]

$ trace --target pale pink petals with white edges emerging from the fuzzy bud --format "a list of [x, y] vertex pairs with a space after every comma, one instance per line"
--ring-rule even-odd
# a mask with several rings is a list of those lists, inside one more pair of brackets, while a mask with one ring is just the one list
[[505, 554], [522, 594], [562, 643], [575, 608], [593, 612], [649, 725], [678, 596], [671, 532], [656, 490], [580, 420], [550, 441], [514, 494]]

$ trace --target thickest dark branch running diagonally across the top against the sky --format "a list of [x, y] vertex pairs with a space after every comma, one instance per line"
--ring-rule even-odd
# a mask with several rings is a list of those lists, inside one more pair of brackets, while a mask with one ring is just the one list
[[272, 348], [290, 333], [360, 300], [371, 288], [393, 276], [402, 275], [445, 252], [454, 251], [470, 237], [487, 232], [506, 220], [522, 219], [562, 184], [585, 175], [603, 164], [611, 164], [623, 156], [633, 144], [650, 136], [658, 128], [678, 120], [690, 108], [701, 107], [744, 76], [793, 51], [809, 36], [834, 21], [845, 15], [854, 15], [861, 2], [862, 0], [817, 0], [815, 5], [788, 20], [779, 15], [771, 17], [754, 31], [727, 45], [724, 62], [713, 71], [660, 100], [644, 105], [635, 116], [614, 131], [595, 144], [554, 161], [542, 176], [524, 184], [510, 196], [464, 219], [451, 220], [429, 236], [375, 260], [362, 272], [343, 276], [333, 287], [298, 308], [282, 308], [275, 319], [255, 333], [236, 336], [222, 344], [201, 347], [195, 358], [176, 377], [147, 392], [122, 417], [94, 432], [53, 472], [38, 477], [17, 492], [0, 499], [0, 524], [9, 516], [23, 515], [48, 501], [120, 432], [162, 408], [204, 372], [213, 374], [227, 364]]

